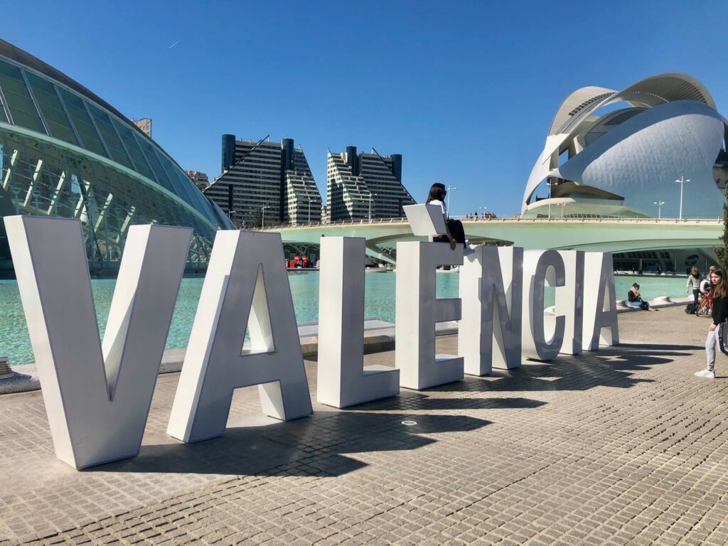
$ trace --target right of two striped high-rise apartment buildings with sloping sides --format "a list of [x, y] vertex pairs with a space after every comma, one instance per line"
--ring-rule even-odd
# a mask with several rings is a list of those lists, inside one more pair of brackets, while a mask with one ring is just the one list
[[328, 221], [401, 218], [402, 207], [415, 203], [402, 185], [400, 154], [357, 154], [347, 146], [340, 154], [329, 150], [327, 167]]

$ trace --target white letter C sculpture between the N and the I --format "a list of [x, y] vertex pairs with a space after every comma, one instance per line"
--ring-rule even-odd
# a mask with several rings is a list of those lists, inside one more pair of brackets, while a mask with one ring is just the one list
[[[553, 360], [561, 351], [566, 317], [557, 315], [550, 322], [553, 331], [546, 339], [544, 320], [545, 285], [563, 287], [566, 271], [555, 250], [526, 250], [523, 255], [526, 308], [523, 309], [523, 356], [534, 360]], [[558, 297], [558, 296], [557, 296]]]

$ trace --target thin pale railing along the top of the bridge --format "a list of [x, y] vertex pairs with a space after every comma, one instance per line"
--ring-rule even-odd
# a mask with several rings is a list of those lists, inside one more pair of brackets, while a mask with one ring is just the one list
[[[611, 216], [598, 216], [593, 215], [588, 218], [573, 218], [573, 217], [556, 217], [551, 218], [496, 218], [488, 216], [487, 218], [475, 218], [472, 216], [451, 216], [454, 220], [459, 220], [466, 223], [497, 223], [497, 222], [523, 222], [523, 223], [598, 223], [598, 222], [638, 222], [638, 223], [657, 223], [657, 224], [670, 224], [670, 223], [686, 223], [686, 222], [722, 222], [723, 218], [613, 218]], [[290, 224], [281, 223], [274, 226], [265, 226], [264, 228], [252, 228], [264, 231], [278, 231], [280, 229], [307, 229], [307, 228], [326, 228], [333, 226], [371, 226], [379, 224], [400, 224], [407, 223], [407, 218], [372, 218], [371, 220], [337, 220], [333, 222], [315, 222], [315, 223], [303, 223], [303, 224]]]

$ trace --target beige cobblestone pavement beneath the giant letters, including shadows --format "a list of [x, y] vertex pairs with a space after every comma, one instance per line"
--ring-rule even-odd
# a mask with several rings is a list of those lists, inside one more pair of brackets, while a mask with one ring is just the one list
[[141, 455], [83, 472], [52, 454], [39, 392], [2, 396], [0, 544], [724, 545], [728, 377], [693, 376], [707, 326], [622, 314], [620, 347], [293, 422], [241, 389], [224, 438], [191, 446], [165, 435], [168, 374]]

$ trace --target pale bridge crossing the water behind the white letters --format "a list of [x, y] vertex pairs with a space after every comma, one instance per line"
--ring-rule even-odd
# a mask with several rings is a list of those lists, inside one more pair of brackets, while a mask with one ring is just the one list
[[[472, 244], [489, 242], [529, 249], [631, 252], [678, 248], [713, 248], [723, 234], [721, 220], [675, 218], [478, 218], [462, 220]], [[414, 237], [406, 218], [277, 226], [291, 245], [318, 245], [320, 237], [364, 237], [367, 253], [394, 263], [397, 242]]]

